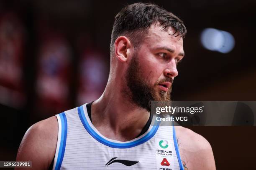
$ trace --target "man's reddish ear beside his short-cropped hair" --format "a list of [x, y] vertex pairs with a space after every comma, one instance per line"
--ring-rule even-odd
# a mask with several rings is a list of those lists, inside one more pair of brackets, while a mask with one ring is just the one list
[[125, 36], [120, 36], [115, 40], [115, 57], [121, 62], [126, 62], [131, 54], [131, 42]]

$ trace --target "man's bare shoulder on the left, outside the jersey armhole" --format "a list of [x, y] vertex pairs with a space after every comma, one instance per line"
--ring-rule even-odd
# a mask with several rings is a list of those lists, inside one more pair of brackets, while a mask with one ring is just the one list
[[33, 169], [47, 169], [54, 158], [57, 139], [58, 120], [55, 116], [37, 122], [25, 133], [16, 160], [32, 161]]

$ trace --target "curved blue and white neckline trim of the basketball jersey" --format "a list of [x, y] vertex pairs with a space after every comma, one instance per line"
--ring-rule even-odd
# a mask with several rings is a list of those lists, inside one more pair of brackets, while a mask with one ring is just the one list
[[100, 142], [104, 145], [107, 145], [111, 148], [132, 148], [132, 147], [135, 147], [142, 143], [145, 143], [146, 141], [150, 140], [155, 135], [156, 131], [159, 128], [159, 124], [154, 125], [154, 126], [151, 125], [148, 128], [148, 130], [146, 131], [146, 133], [144, 133], [143, 135], [139, 136], [138, 138], [135, 138], [130, 141], [121, 142], [118, 140], [112, 140], [112, 139], [106, 138], [105, 136], [100, 134], [100, 132], [95, 128], [95, 126], [92, 125], [92, 122], [90, 121], [90, 118], [88, 116], [86, 105], [87, 104], [84, 104], [84, 105], [78, 107], [78, 109], [77, 109], [78, 115], [80, 117], [82, 124], [84, 125], [84, 128], [98, 142]]

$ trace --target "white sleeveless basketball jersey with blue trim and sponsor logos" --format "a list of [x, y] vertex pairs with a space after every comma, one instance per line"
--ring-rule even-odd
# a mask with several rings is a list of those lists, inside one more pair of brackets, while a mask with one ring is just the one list
[[59, 124], [54, 170], [184, 170], [174, 126], [150, 126], [131, 141], [101, 135], [86, 104], [56, 115]]

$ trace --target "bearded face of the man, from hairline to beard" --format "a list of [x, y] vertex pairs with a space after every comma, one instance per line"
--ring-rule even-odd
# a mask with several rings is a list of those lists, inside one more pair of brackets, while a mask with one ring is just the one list
[[125, 76], [131, 99], [151, 110], [151, 100], [170, 101], [172, 82], [178, 75], [177, 62], [184, 57], [183, 40], [175, 30], [152, 25], [139, 49], [131, 57]]

